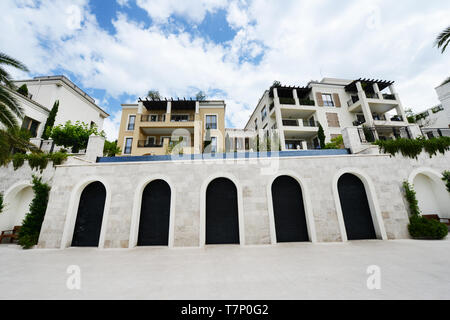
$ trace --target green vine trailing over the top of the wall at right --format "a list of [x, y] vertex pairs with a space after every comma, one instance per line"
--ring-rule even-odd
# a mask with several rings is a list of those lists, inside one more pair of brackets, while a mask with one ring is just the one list
[[401, 153], [404, 157], [417, 159], [419, 154], [425, 151], [431, 158], [437, 155], [438, 152], [445, 154], [446, 151], [450, 150], [450, 137], [377, 140], [374, 144], [379, 146], [381, 152], [389, 153], [392, 156]]

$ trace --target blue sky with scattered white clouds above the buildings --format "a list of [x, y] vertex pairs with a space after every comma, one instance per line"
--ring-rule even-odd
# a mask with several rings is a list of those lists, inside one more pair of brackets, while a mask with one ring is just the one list
[[0, 11], [1, 50], [30, 69], [14, 76], [67, 75], [111, 114], [110, 139], [120, 104], [150, 89], [203, 90], [243, 127], [273, 80], [394, 80], [420, 111], [450, 76], [450, 53], [433, 47], [446, 0], [2, 0]]

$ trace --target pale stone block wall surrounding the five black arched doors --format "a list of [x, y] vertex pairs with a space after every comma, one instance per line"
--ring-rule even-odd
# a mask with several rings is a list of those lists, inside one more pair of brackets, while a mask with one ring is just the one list
[[345, 172], [357, 173], [364, 179], [366, 188], [371, 189], [369, 202], [377, 208], [385, 238], [408, 238], [408, 214], [402, 182], [420, 168], [432, 168], [436, 172], [449, 169], [449, 160], [450, 154], [447, 153], [432, 159], [422, 155], [418, 160], [386, 155], [348, 155], [277, 158], [269, 162], [241, 159], [59, 166], [53, 178], [39, 247], [70, 245], [79, 195], [93, 181], [101, 181], [108, 193], [100, 247], [129, 247], [133, 212], [135, 216], [139, 214], [136, 209], [139, 190], [154, 179], [164, 179], [172, 188], [175, 207], [171, 217], [173, 240], [170, 245], [199, 246], [204, 202], [201, 190], [206, 189], [209, 181], [222, 176], [236, 182], [242, 200], [240, 214], [245, 241], [241, 244], [270, 244], [273, 229], [270, 183], [283, 174], [294, 176], [301, 182], [307, 211], [313, 216], [315, 240], [342, 241], [342, 224], [337, 209], [339, 202], [334, 186], [339, 175]]

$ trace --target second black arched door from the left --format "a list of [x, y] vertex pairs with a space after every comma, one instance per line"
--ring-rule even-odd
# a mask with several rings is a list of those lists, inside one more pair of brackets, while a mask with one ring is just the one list
[[138, 246], [169, 244], [170, 186], [164, 180], [150, 182], [142, 193]]

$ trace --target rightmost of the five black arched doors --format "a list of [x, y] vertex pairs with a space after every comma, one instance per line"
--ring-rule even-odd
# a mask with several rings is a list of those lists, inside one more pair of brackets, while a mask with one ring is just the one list
[[338, 191], [347, 239], [376, 239], [363, 182], [357, 176], [346, 173], [339, 178]]

